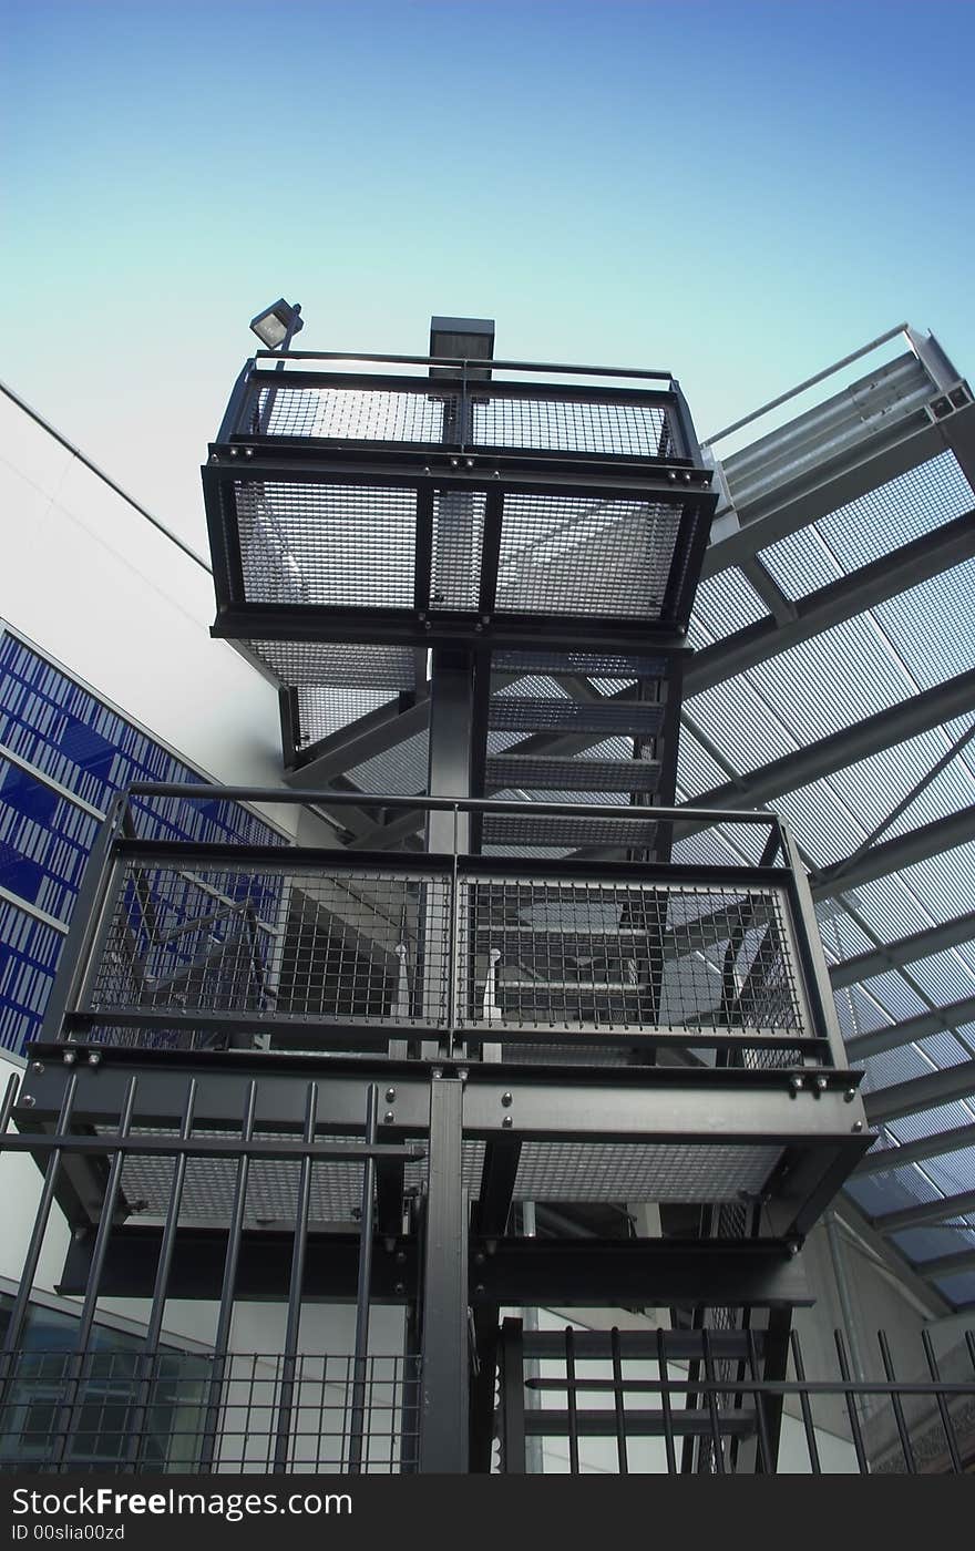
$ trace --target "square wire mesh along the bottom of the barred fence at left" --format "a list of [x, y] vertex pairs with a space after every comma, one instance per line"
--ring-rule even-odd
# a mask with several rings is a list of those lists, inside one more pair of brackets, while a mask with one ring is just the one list
[[0, 1470], [412, 1469], [419, 1359], [19, 1351], [0, 1359]]

